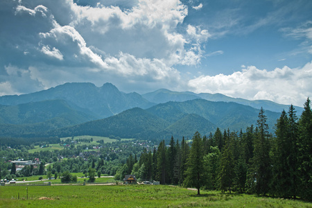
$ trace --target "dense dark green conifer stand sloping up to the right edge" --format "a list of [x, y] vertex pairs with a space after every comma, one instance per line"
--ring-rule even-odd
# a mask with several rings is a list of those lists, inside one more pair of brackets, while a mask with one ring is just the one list
[[135, 174], [140, 180], [184, 187], [257, 193], [261, 196], [312, 200], [312, 112], [309, 98], [296, 116], [293, 105], [281, 112], [272, 135], [261, 108], [257, 125], [245, 132], [216, 129], [192, 140], [161, 141], [152, 151], [130, 155], [115, 175]]

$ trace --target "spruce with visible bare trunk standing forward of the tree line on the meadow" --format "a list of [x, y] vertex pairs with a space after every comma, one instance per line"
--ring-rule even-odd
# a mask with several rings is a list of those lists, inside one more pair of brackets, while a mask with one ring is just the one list
[[185, 185], [187, 187], [196, 187], [198, 195], [200, 195], [200, 187], [202, 187], [202, 184], [205, 184], [206, 172], [203, 157], [202, 138], [200, 133], [196, 132], [193, 136], [193, 143], [187, 159]]

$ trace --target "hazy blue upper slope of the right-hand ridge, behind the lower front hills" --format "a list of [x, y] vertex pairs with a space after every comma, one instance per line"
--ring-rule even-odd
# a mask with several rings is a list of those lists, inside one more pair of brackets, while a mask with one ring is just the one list
[[[184, 114], [198, 114], [217, 127], [230, 130], [240, 130], [240, 128], [245, 130], [247, 126], [255, 125], [259, 114], [259, 110], [248, 105], [211, 102], [203, 99], [168, 102], [150, 107], [147, 111], [171, 123], [181, 119]], [[266, 115], [270, 128], [273, 128], [280, 113], [266, 111]]]

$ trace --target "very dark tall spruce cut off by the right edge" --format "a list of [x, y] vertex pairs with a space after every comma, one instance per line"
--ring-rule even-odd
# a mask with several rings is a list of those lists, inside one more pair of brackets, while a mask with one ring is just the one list
[[304, 111], [299, 119], [298, 164], [300, 196], [312, 200], [312, 111], [307, 98]]

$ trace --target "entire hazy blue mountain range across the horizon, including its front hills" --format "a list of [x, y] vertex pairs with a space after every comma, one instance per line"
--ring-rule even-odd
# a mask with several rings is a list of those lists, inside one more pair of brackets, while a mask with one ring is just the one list
[[[272, 130], [287, 105], [248, 101], [222, 94], [159, 89], [148, 94], [123, 93], [105, 83], [66, 83], [31, 94], [0, 96], [1, 137], [98, 135], [166, 139], [191, 137], [216, 128], [245, 130], [255, 125], [263, 107]], [[295, 107], [297, 114], [301, 107]]]

